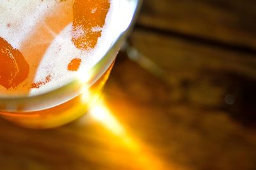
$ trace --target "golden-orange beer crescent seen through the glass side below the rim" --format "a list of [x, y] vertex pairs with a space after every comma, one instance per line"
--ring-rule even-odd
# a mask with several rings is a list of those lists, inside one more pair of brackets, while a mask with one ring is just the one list
[[109, 66], [108, 70], [100, 77], [100, 79], [88, 89], [88, 91], [90, 91], [88, 101], [84, 100], [82, 94], [64, 104], [52, 107], [51, 109], [34, 112], [0, 111], [0, 115], [6, 120], [10, 120], [17, 125], [28, 128], [52, 128], [76, 120], [80, 116], [83, 116], [99, 97], [104, 88], [104, 84], [109, 77], [113, 64]]

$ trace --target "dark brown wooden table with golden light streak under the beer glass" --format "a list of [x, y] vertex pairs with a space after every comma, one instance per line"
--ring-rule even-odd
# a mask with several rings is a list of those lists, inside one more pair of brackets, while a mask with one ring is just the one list
[[0, 169], [256, 169], [255, 2], [145, 0], [104, 91], [113, 126], [0, 120]]

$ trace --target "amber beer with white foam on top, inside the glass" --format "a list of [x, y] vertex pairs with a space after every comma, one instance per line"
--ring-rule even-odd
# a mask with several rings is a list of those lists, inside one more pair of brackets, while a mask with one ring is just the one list
[[[33, 98], [67, 85], [102, 60], [111, 47], [117, 0], [1, 1], [0, 97]], [[109, 63], [109, 62], [108, 62]], [[112, 64], [111, 64], [112, 63]], [[70, 97], [60, 104], [0, 110], [3, 118], [24, 127], [49, 128], [75, 120], [102, 90], [113, 61], [91, 84], [90, 97]], [[106, 67], [105, 66], [105, 67]], [[95, 78], [96, 77], [96, 78]], [[92, 77], [90, 77], [92, 78]], [[82, 79], [83, 81], [83, 77]], [[88, 86], [87, 86], [88, 85]], [[42, 102], [43, 102], [42, 97]], [[10, 100], [11, 101], [11, 100]], [[47, 104], [46, 104], [47, 105]], [[8, 106], [4, 105], [8, 110]]]

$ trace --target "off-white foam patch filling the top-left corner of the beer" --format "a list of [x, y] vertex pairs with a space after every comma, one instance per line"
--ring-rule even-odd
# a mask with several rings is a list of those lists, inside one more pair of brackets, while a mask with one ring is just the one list
[[1, 1], [0, 36], [13, 48], [19, 49], [21, 43], [31, 34], [45, 13], [51, 12], [55, 1]]

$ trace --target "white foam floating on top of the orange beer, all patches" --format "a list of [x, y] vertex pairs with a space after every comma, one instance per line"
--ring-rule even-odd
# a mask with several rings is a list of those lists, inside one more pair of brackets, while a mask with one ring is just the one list
[[[68, 1], [68, 0], [66, 0]], [[74, 0], [69, 0], [71, 3]], [[51, 27], [45, 24], [45, 16], [58, 8], [56, 0], [33, 1], [1, 1], [0, 3], [0, 36], [8, 41], [14, 48], [21, 49], [26, 44], [29, 36], [35, 34], [38, 24], [45, 24], [45, 29], [51, 33], [53, 40], [44, 52], [40, 64], [36, 70], [33, 82], [38, 83], [36, 88], [31, 88], [29, 95], [38, 95], [59, 88], [70, 82], [77, 74], [84, 73], [97, 63], [113, 42], [113, 30], [115, 30], [114, 16], [118, 10], [118, 0], [111, 0], [104, 27], [93, 27], [92, 31], [102, 31], [97, 45], [93, 49], [81, 50], [72, 42], [73, 38], [79, 38], [84, 34], [83, 29], [72, 31], [72, 20], [59, 33], [55, 33]], [[35, 42], [33, 50], [41, 47], [45, 42]], [[22, 52], [22, 50], [21, 50]], [[26, 56], [24, 56], [26, 58]], [[67, 69], [72, 59], [81, 59], [77, 72]]]

